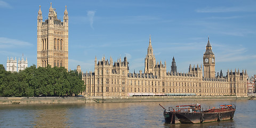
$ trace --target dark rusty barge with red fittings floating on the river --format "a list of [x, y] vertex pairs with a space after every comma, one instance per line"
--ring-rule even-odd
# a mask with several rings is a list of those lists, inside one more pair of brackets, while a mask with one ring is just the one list
[[[160, 105], [160, 104], [159, 104]], [[196, 124], [215, 121], [225, 121], [234, 118], [236, 106], [220, 105], [219, 108], [202, 110], [200, 104], [176, 106], [164, 109], [165, 123], [170, 124]]]

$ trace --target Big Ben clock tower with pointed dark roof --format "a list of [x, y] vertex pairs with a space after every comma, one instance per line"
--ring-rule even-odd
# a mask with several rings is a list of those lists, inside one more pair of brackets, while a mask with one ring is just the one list
[[204, 77], [213, 78], [215, 77], [215, 55], [212, 52], [212, 46], [210, 44], [209, 36], [208, 43], [206, 45], [206, 51], [203, 57], [204, 61]]

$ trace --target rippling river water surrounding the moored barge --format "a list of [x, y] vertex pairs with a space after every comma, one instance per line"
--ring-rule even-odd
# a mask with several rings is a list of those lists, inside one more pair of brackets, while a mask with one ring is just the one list
[[[159, 107], [200, 103], [218, 107], [233, 103], [233, 121], [203, 124], [165, 124]], [[256, 100], [170, 101], [86, 103], [73, 105], [4, 105], [0, 106], [0, 127], [255, 127]]]

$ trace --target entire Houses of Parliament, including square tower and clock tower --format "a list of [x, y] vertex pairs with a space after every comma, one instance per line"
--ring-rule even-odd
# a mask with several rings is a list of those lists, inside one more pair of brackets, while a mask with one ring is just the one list
[[[146, 51], [146, 50], [145, 50]], [[247, 95], [246, 70], [228, 70], [226, 76], [222, 70], [215, 74], [215, 55], [210, 39], [203, 54], [203, 67], [189, 66], [188, 73], [178, 73], [174, 57], [171, 71], [166, 70], [166, 62], [156, 63], [153, 46], [149, 45], [145, 58], [144, 72], [129, 72], [129, 61], [118, 58], [113, 61], [103, 57], [94, 60], [94, 73], [82, 75], [87, 97], [127, 97], [132, 95]], [[67, 6], [63, 22], [57, 18], [57, 12], [49, 9], [48, 19], [43, 21], [41, 6], [37, 16], [37, 67], [65, 67], [68, 69], [68, 11]], [[81, 71], [78, 66], [77, 71]], [[204, 73], [204, 74], [203, 74]]]

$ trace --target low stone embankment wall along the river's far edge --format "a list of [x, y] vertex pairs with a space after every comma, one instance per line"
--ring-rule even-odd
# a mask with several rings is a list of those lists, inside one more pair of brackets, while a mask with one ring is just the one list
[[29, 97], [0, 98], [0, 105], [33, 105], [63, 103], [107, 103], [107, 102], [159, 102], [159, 101], [203, 101], [203, 100], [248, 100], [236, 96], [178, 96], [178, 97]]

